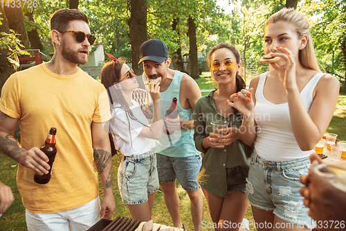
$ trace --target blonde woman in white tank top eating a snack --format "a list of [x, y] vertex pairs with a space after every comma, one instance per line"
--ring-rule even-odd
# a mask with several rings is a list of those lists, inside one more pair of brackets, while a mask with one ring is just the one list
[[311, 230], [314, 221], [299, 194], [299, 179], [307, 175], [309, 155], [333, 117], [339, 81], [320, 72], [309, 23], [293, 9], [266, 22], [264, 53], [280, 60], [228, 102], [247, 119], [244, 142], [255, 142], [246, 196], [257, 230]]

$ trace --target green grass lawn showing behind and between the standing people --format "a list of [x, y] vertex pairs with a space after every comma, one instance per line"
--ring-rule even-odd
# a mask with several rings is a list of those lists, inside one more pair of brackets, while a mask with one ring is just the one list
[[[196, 81], [201, 89], [213, 89], [212, 85], [210, 85], [210, 78], [208, 77], [207, 72], [203, 73], [201, 78], [198, 78]], [[202, 95], [208, 94], [208, 92], [203, 92]], [[333, 132], [338, 134], [339, 140], [346, 140], [346, 96], [344, 94], [339, 95], [338, 105], [336, 107], [336, 111], [334, 112], [334, 117], [329, 124], [327, 132]], [[114, 197], [116, 199], [116, 212], [113, 214], [113, 219], [120, 216], [130, 217], [129, 210], [127, 206], [122, 203], [120, 198], [118, 184], [117, 184], [117, 171], [120, 163], [120, 157], [113, 157], [113, 189], [114, 189]], [[11, 187], [13, 194], [15, 195], [15, 202], [11, 205], [8, 211], [3, 214], [0, 218], [0, 231], [10, 231], [10, 230], [27, 230], [26, 229], [26, 221], [25, 221], [25, 209], [21, 203], [21, 196], [17, 189], [16, 184], [16, 174], [17, 174], [18, 163], [14, 160], [10, 159], [3, 153], [0, 153], [0, 181]], [[188, 198], [188, 194], [181, 188], [179, 182], [176, 182], [176, 186], [178, 188], [179, 199], [180, 199], [180, 211], [181, 211], [181, 219], [185, 228], [187, 230], [193, 230], [191, 213], [190, 213], [190, 200]], [[100, 196], [102, 198], [102, 185], [100, 184]], [[233, 208], [230, 208], [233, 209]], [[166, 225], [172, 225], [172, 221], [170, 219], [170, 215], [167, 211], [167, 207], [165, 206], [165, 202], [163, 200], [163, 194], [160, 190], [156, 193], [156, 199], [154, 203], [153, 209], [153, 220], [156, 223], [163, 223]], [[249, 221], [253, 221], [253, 215], [251, 212], [251, 208], [248, 207], [246, 212], [246, 219]], [[206, 200], [204, 200], [204, 209], [203, 209], [203, 220], [206, 223], [212, 223], [210, 218], [208, 205]], [[208, 228], [203, 230], [209, 230]], [[255, 230], [251, 227], [251, 230]]]

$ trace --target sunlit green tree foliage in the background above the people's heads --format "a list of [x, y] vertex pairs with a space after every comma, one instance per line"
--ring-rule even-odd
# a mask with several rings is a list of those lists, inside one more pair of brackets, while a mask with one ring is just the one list
[[[251, 69], [260, 72], [266, 67], [255, 65], [263, 55], [264, 22], [270, 15], [284, 8], [282, 0], [230, 0], [233, 9], [226, 14], [214, 0], [148, 0], [147, 30], [149, 38], [163, 40], [170, 53], [181, 48], [182, 54], [189, 53], [188, 18], [197, 25], [197, 46], [199, 53], [206, 56], [219, 42], [234, 44], [246, 60], [246, 75]], [[332, 51], [334, 51], [334, 73], [345, 76], [345, 64], [341, 43], [346, 37], [345, 1], [300, 0], [298, 10], [309, 17], [311, 35], [316, 48], [318, 61], [323, 69], [331, 72]], [[44, 45], [44, 53], [53, 54], [53, 46], [48, 31], [48, 19], [55, 10], [66, 8], [66, 1], [41, 0], [34, 10], [35, 23], [24, 17], [26, 30], [37, 28]], [[104, 51], [115, 57], [124, 57], [131, 62], [129, 27], [131, 9], [128, 0], [80, 0], [79, 9], [86, 12], [90, 20], [91, 33], [96, 43], [104, 44]], [[24, 14], [30, 10], [24, 8]], [[176, 31], [172, 29], [174, 19], [179, 20]], [[1, 21], [0, 21], [1, 23]], [[199, 61], [203, 67], [205, 60]], [[340, 78], [343, 80], [343, 78]]]

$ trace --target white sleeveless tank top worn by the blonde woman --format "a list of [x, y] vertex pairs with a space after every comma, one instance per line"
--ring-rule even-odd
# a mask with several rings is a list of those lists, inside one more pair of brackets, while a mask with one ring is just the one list
[[[255, 121], [257, 123], [257, 137], [255, 150], [260, 157], [271, 161], [297, 160], [307, 157], [313, 151], [300, 150], [291, 126], [289, 104], [275, 104], [264, 98], [263, 88], [268, 72], [261, 74], [257, 85], [255, 99]], [[310, 110], [313, 101], [313, 89], [324, 73], [318, 73], [300, 92], [305, 109]]]

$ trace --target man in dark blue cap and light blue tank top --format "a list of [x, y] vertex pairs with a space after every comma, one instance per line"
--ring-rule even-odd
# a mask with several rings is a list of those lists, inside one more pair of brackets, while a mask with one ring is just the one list
[[[158, 180], [168, 211], [175, 227], [183, 227], [179, 214], [179, 196], [175, 180], [178, 178], [181, 187], [187, 191], [191, 202], [194, 230], [201, 230], [203, 217], [203, 198], [197, 176], [201, 169], [201, 153], [194, 146], [194, 105], [201, 97], [197, 83], [187, 74], [170, 69], [171, 59], [168, 57], [166, 44], [157, 39], [148, 40], [140, 46], [140, 60], [146, 78], [161, 77], [161, 111], [170, 107], [174, 97], [178, 99], [176, 108], [179, 116], [176, 119], [165, 119], [165, 130], [170, 135], [164, 135], [156, 141]], [[143, 112], [152, 117], [149, 110]], [[184, 228], [184, 227], [183, 227]], [[184, 228], [185, 229], [185, 228]]]

